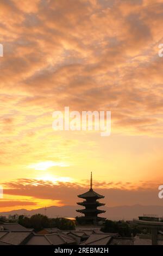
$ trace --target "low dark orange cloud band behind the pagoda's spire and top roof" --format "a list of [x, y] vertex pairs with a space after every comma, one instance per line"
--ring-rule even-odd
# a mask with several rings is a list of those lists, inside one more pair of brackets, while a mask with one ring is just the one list
[[[4, 194], [10, 196], [26, 196], [30, 200], [35, 198], [38, 202], [42, 199], [59, 200], [61, 204], [75, 205], [79, 200], [77, 195], [89, 190], [85, 185], [87, 183], [88, 181], [76, 184], [72, 182], [54, 184], [51, 181], [18, 179], [6, 182], [3, 186]], [[134, 204], [161, 205], [161, 200], [158, 198], [158, 184], [153, 181], [142, 181], [139, 187], [131, 182], [125, 184], [122, 182], [94, 182], [93, 187], [97, 193], [105, 196], [104, 201], [108, 206], [132, 205], [133, 202]]]

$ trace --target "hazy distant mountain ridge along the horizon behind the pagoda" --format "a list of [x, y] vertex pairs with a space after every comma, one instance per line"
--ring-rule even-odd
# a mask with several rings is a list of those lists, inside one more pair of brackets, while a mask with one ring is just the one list
[[[79, 206], [68, 205], [68, 206], [50, 206], [47, 207], [46, 214], [48, 217], [76, 217], [79, 214], [76, 212]], [[159, 217], [163, 216], [163, 206], [158, 205], [123, 205], [115, 207], [103, 207], [103, 210], [106, 210], [105, 214], [102, 214], [102, 217], [109, 218], [110, 220], [132, 220], [143, 214], [154, 214]], [[45, 215], [45, 208], [39, 208], [35, 210], [13, 210], [9, 212], [0, 212], [0, 215], [34, 215], [34, 214], [43, 214]]]

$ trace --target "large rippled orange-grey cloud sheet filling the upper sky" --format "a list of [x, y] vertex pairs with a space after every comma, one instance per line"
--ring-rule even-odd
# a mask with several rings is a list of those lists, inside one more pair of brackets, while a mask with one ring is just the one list
[[[162, 109], [158, 88], [162, 59], [153, 46], [161, 40], [156, 32], [163, 17], [162, 3], [150, 3], [35, 0], [27, 8], [28, 3], [2, 1], [7, 17], [11, 11], [17, 15], [12, 25], [15, 35], [11, 29], [2, 33], [1, 84], [6, 95], [14, 93], [18, 115], [24, 104], [33, 107], [33, 114], [42, 105], [47, 115], [65, 103], [76, 110], [96, 106], [115, 113], [113, 125], [116, 113], [124, 116], [125, 122], [116, 121], [113, 132], [117, 126], [122, 131], [128, 126], [131, 132], [145, 134], [143, 126], [151, 125], [147, 119], [153, 120], [155, 129], [162, 123], [154, 112]], [[12, 28], [4, 21], [6, 29]], [[19, 94], [27, 97], [17, 102]], [[142, 129], [133, 122], [138, 119]]]

